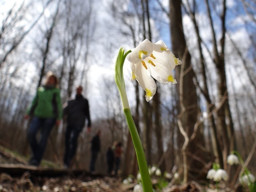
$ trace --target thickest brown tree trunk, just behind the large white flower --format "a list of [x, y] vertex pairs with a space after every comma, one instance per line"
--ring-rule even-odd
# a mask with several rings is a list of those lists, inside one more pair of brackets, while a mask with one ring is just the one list
[[[186, 40], [182, 27], [182, 15], [181, 15], [181, 1], [180, 0], [170, 0], [170, 20], [171, 20], [171, 38], [172, 38], [172, 49], [176, 57], [182, 60], [182, 65], [184, 65], [184, 76], [183, 78], [183, 101], [185, 112], [181, 117], [181, 123], [187, 132], [188, 137], [194, 131], [194, 125], [197, 122], [197, 114], [199, 113], [199, 108], [197, 107], [197, 95], [196, 86], [192, 79], [195, 77], [194, 70], [191, 66], [191, 56], [187, 50]], [[183, 55], [185, 58], [183, 58]], [[176, 69], [176, 76], [180, 79], [180, 68]], [[177, 86], [178, 92], [179, 86]], [[197, 130], [196, 138], [188, 144], [187, 150], [197, 156], [199, 159], [205, 159], [204, 151], [200, 146], [204, 146], [203, 132], [200, 129]], [[200, 170], [203, 168], [203, 164], [195, 159], [191, 159], [188, 162], [189, 166], [193, 166], [196, 172], [191, 172], [196, 176]]]

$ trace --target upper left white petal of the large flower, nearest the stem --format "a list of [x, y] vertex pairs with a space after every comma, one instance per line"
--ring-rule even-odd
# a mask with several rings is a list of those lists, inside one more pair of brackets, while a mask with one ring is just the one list
[[151, 43], [148, 39], [145, 39], [141, 42], [137, 47], [133, 49], [133, 51], [127, 55], [127, 60], [132, 63], [140, 63], [141, 60], [150, 56], [153, 52], [153, 43]]

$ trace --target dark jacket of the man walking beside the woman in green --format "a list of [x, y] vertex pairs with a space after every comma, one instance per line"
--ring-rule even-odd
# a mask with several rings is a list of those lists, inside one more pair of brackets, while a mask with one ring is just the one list
[[68, 101], [67, 107], [63, 109], [63, 116], [67, 116], [68, 126], [84, 127], [87, 118], [87, 126], [91, 127], [89, 103], [83, 95], [76, 95], [76, 99]]

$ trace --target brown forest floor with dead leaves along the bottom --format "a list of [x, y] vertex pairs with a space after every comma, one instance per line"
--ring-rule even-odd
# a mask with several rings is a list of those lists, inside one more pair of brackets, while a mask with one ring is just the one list
[[[136, 182], [124, 185], [121, 177], [90, 174], [85, 170], [53, 168], [50, 164], [29, 166], [24, 158], [0, 146], [0, 192], [132, 192]], [[217, 192], [192, 181], [182, 185], [168, 185], [163, 192]], [[219, 186], [219, 192], [232, 191]]]

